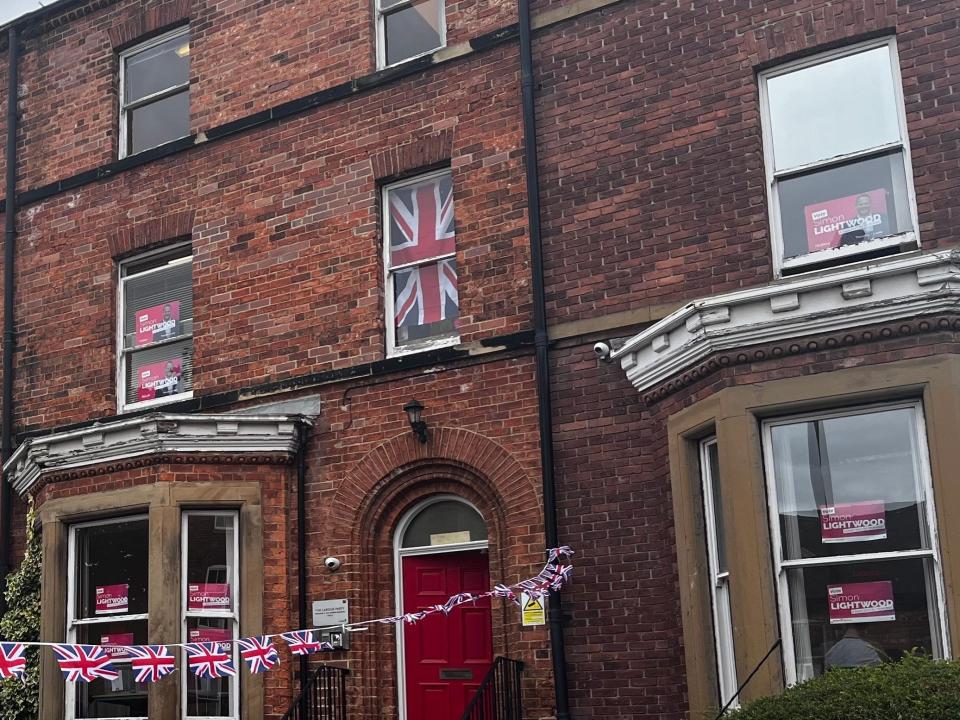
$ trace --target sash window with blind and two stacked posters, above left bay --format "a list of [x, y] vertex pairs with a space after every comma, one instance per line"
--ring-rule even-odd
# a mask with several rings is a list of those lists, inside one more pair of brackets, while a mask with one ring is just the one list
[[189, 245], [120, 265], [120, 410], [190, 397], [193, 264]]

